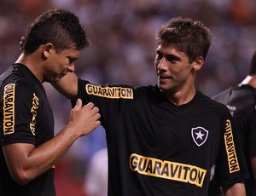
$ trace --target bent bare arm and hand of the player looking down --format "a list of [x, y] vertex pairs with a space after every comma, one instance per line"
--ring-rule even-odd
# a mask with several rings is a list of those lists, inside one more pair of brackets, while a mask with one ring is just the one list
[[49, 170], [80, 136], [89, 134], [100, 125], [99, 109], [89, 103], [82, 107], [78, 100], [70, 114], [69, 123], [53, 139], [39, 147], [28, 143], [3, 146], [10, 175], [15, 182], [26, 184]]

